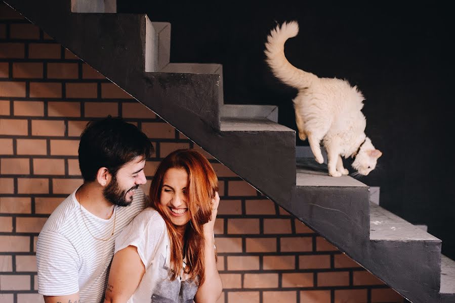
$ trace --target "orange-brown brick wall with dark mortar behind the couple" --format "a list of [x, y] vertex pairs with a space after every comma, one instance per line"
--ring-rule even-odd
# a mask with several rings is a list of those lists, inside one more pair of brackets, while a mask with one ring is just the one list
[[[43, 301], [36, 294], [36, 237], [78, 185], [78, 138], [107, 114], [136, 124], [159, 161], [194, 147], [42, 30], [0, 5], [0, 302]], [[403, 299], [206, 156], [220, 179], [216, 222], [220, 302], [401, 302]], [[148, 186], [145, 186], [147, 190]]]

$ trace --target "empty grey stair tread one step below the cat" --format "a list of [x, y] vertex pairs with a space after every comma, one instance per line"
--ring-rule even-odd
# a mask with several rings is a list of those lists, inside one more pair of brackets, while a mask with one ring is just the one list
[[370, 240], [441, 241], [373, 203], [370, 203]]

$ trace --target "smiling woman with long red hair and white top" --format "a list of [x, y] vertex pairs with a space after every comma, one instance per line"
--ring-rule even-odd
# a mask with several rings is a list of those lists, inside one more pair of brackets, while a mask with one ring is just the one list
[[166, 157], [148, 207], [115, 240], [105, 303], [216, 302], [217, 191], [217, 176], [200, 153], [179, 149]]

